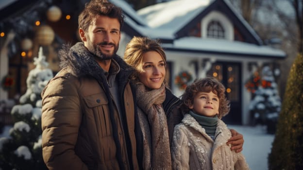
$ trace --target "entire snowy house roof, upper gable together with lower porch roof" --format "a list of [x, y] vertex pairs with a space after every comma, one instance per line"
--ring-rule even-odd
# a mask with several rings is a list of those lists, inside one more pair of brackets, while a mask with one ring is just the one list
[[[220, 11], [230, 18], [246, 42], [200, 37], [187, 37], [194, 25], [211, 11]], [[149, 27], [166, 32], [172, 43], [164, 42], [166, 51], [213, 53], [219, 55], [285, 58], [279, 49], [262, 45], [262, 40], [228, 0], [172, 0], [137, 11]], [[154, 33], [155, 34], [155, 33]], [[158, 37], [161, 38], [161, 36]], [[151, 36], [150, 36], [151, 37]], [[157, 36], [156, 36], [157, 37]]]

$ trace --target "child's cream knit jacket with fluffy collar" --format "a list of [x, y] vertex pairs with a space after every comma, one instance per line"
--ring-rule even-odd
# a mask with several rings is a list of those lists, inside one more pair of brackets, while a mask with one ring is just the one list
[[171, 146], [173, 170], [249, 170], [242, 153], [226, 145], [231, 132], [218, 119], [215, 141], [189, 114], [176, 125]]

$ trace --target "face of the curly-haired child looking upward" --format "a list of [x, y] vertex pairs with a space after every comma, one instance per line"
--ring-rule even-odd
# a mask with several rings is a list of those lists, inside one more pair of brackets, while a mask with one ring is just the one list
[[199, 92], [189, 106], [196, 114], [214, 117], [219, 114], [219, 98], [213, 92]]

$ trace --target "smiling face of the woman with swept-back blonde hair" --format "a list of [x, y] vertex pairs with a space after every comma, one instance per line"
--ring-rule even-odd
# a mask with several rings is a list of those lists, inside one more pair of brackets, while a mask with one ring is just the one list
[[165, 78], [165, 61], [156, 51], [148, 51], [143, 54], [142, 64], [137, 68], [140, 70], [139, 80], [151, 89], [161, 87]]

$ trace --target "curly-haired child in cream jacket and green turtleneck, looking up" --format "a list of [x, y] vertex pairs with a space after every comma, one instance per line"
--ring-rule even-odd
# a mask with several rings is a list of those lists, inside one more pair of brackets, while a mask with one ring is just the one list
[[175, 170], [249, 170], [242, 153], [226, 145], [231, 132], [221, 120], [230, 110], [225, 87], [215, 78], [196, 80], [181, 96], [184, 119], [171, 146]]

